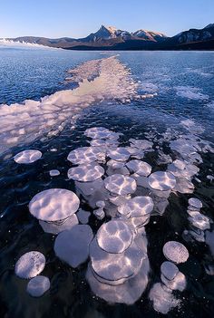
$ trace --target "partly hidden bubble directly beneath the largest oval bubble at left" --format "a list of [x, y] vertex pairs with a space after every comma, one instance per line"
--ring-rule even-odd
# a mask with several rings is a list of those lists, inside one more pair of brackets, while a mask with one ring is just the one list
[[39, 220], [40, 226], [43, 227], [43, 230], [45, 233], [52, 233], [52, 234], [58, 234], [60, 232], [63, 232], [65, 230], [68, 230], [72, 228], [73, 226], [76, 226], [79, 224], [78, 218], [75, 214], [71, 217], [67, 217], [60, 221], [55, 222], [45, 222], [42, 220]]

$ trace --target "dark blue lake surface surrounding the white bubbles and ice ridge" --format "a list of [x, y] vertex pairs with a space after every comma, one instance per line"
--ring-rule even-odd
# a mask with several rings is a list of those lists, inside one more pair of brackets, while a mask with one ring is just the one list
[[[102, 57], [105, 55], [101, 53], [0, 49], [0, 102], [39, 99], [64, 89], [66, 86], [59, 82], [63, 81], [65, 70]], [[112, 101], [111, 105], [105, 101], [92, 104], [83, 111], [74, 130], [70, 130], [68, 123], [58, 136], [43, 142], [35, 140], [28, 145], [43, 152], [43, 158], [32, 165], [17, 165], [12, 158], [2, 155], [0, 317], [160, 317], [162, 315], [153, 310], [148, 294], [151, 285], [160, 282], [160, 265], [165, 260], [162, 246], [169, 240], [178, 240], [187, 246], [190, 258], [179, 265], [188, 281], [184, 292], [175, 293], [181, 300], [181, 306], [167, 316], [213, 317], [214, 276], [207, 275], [204, 267], [213, 265], [213, 256], [205, 243], [187, 243], [181, 237], [188, 227], [186, 210], [192, 195], [171, 195], [164, 215], [151, 217], [146, 226], [151, 262], [150, 283], [141, 299], [131, 306], [107, 304], [92, 294], [84, 278], [87, 264], [75, 270], [63, 264], [53, 252], [54, 236], [44, 233], [28, 209], [30, 199], [44, 189], [67, 188], [75, 191], [73, 181], [67, 178], [67, 170], [71, 166], [66, 158], [72, 149], [87, 145], [83, 136], [87, 128], [103, 126], [122, 132], [122, 143], [127, 145], [130, 138], [144, 139], [147, 132], [151, 134], [153, 131], [158, 136], [168, 128], [183, 131], [180, 120], [189, 119], [194, 120], [194, 127], [199, 128], [204, 140], [213, 140], [213, 57], [213, 53], [206, 52], [120, 53], [118, 59], [131, 68], [131, 77], [141, 81], [141, 93], [157, 93], [157, 96], [127, 104], [119, 101]], [[52, 148], [58, 151], [50, 152]], [[17, 146], [12, 149], [12, 154], [23, 149], [24, 146]], [[203, 202], [203, 214], [214, 219], [213, 181], [206, 178], [213, 174], [213, 155], [207, 153], [201, 156], [203, 163], [199, 165], [197, 176], [201, 182], [194, 181], [193, 195]], [[155, 154], [147, 160], [154, 170], [159, 169]], [[59, 169], [61, 175], [50, 178], [50, 169]], [[95, 217], [90, 217], [94, 230], [101, 224]], [[43, 274], [51, 280], [50, 291], [38, 299], [26, 294], [26, 281], [16, 277], [14, 272], [18, 257], [30, 250], [44, 253], [47, 263]]]

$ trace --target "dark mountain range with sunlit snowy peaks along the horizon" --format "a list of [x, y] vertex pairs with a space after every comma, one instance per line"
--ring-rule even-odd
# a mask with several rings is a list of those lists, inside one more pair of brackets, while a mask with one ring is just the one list
[[130, 33], [102, 25], [96, 33], [79, 39], [22, 36], [6, 40], [68, 50], [214, 50], [214, 24], [203, 29], [190, 29], [172, 37], [146, 30]]

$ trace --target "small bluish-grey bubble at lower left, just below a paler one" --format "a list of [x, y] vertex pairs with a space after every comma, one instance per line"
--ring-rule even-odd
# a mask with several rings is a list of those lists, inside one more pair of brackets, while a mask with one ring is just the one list
[[27, 293], [33, 297], [41, 297], [50, 288], [50, 280], [43, 275], [36, 276], [27, 284]]

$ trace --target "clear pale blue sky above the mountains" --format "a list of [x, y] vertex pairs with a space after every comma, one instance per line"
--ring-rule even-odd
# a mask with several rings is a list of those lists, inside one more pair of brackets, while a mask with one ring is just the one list
[[0, 0], [0, 37], [82, 37], [101, 24], [174, 35], [214, 23], [214, 0]]

